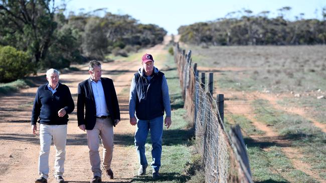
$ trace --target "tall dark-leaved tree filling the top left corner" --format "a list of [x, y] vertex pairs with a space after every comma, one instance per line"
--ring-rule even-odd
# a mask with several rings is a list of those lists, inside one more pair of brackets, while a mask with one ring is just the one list
[[38, 63], [53, 43], [55, 11], [54, 0], [1, 0], [0, 44], [31, 52]]

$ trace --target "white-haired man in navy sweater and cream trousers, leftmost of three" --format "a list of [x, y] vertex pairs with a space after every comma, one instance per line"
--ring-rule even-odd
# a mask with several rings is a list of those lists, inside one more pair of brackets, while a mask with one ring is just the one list
[[68, 113], [74, 110], [75, 104], [68, 86], [59, 82], [58, 70], [51, 68], [46, 75], [48, 83], [41, 85], [36, 92], [31, 119], [34, 135], [37, 131], [36, 122], [40, 123], [40, 177], [35, 182], [48, 182], [52, 140], [56, 149], [54, 176], [57, 182], [64, 182], [62, 176], [66, 158]]

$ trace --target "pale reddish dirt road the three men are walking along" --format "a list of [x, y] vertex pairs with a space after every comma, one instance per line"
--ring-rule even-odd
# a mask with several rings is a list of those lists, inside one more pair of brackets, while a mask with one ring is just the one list
[[[166, 36], [164, 43], [142, 51], [140, 56], [148, 52], [153, 54], [155, 59], [155, 55], [166, 54], [164, 47], [170, 38]], [[129, 182], [136, 175], [138, 166], [133, 147], [135, 127], [129, 124], [128, 90], [133, 73], [141, 66], [140, 56], [137, 60], [115, 60], [102, 64], [102, 76], [112, 78], [115, 84], [121, 112], [121, 121], [114, 128], [112, 169], [115, 179], [109, 180], [103, 175], [103, 182]], [[162, 65], [162, 62], [155, 60], [155, 66], [160, 68]], [[60, 75], [60, 81], [69, 86], [75, 105], [77, 85], [89, 77], [87, 64], [79, 67], [80, 71]], [[39, 85], [46, 82], [45, 76], [36, 77], [35, 80]], [[36, 90], [37, 87], [31, 87], [0, 97], [0, 182], [34, 182], [38, 177], [39, 136], [33, 136], [30, 124]], [[87, 138], [86, 133], [77, 126], [76, 108], [69, 115], [69, 119], [64, 179], [68, 182], [89, 182], [92, 172]], [[52, 145], [48, 182], [56, 182], [53, 177], [54, 154]]]

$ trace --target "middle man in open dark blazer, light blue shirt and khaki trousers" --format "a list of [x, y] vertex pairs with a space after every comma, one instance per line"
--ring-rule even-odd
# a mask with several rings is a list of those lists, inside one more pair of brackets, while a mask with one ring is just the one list
[[90, 78], [78, 84], [77, 119], [79, 128], [87, 133], [91, 182], [101, 182], [99, 136], [103, 145], [102, 167], [112, 179], [113, 126], [120, 121], [120, 110], [112, 79], [101, 77], [101, 63], [92, 60], [88, 67]]

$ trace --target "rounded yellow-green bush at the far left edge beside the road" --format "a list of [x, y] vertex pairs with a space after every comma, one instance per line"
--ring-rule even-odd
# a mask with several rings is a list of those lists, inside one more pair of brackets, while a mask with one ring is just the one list
[[35, 72], [28, 53], [12, 46], [0, 47], [0, 82], [10, 82]]

